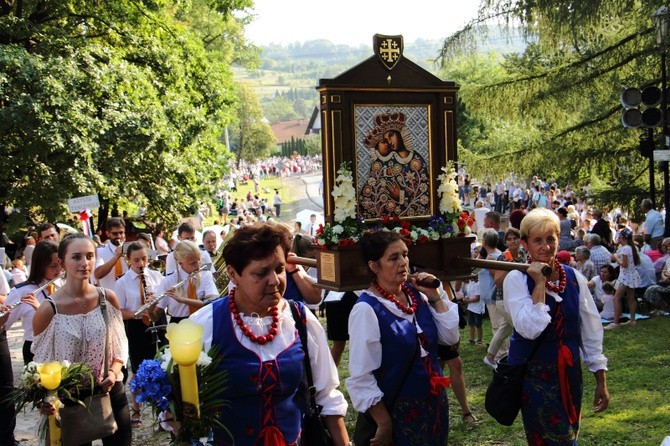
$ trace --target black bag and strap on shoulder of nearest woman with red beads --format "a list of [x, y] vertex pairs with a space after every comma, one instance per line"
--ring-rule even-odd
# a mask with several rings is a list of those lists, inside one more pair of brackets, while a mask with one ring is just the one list
[[[332, 446], [333, 439], [326, 428], [321, 416], [321, 406], [316, 404], [316, 387], [312, 379], [312, 365], [309, 362], [309, 351], [307, 348], [307, 327], [302, 320], [302, 315], [294, 301], [289, 301], [291, 314], [295, 321], [295, 327], [300, 335], [302, 350], [305, 352], [304, 367], [307, 379], [307, 392], [309, 393], [309, 405], [302, 421], [301, 443], [304, 446]], [[309, 311], [309, 310], [306, 310]]]

